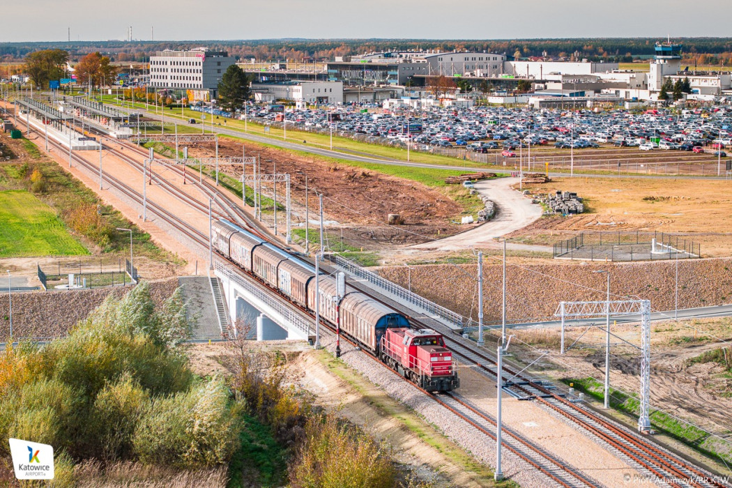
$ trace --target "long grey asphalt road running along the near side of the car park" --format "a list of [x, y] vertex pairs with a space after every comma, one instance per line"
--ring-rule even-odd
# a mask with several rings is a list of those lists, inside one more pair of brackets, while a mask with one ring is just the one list
[[[171, 117], [171, 116], [161, 116], [160, 114], [156, 114], [154, 112], [149, 112], [146, 110], [130, 110], [130, 109], [122, 109], [119, 107], [115, 107], [119, 110], [124, 110], [127, 112], [141, 112], [145, 113], [146, 116], [148, 116], [150, 119], [163, 119], [163, 121], [167, 122], [177, 122], [179, 124], [185, 124], [184, 121], [177, 117]], [[220, 119], [223, 120], [223, 119]], [[205, 129], [210, 130], [211, 125], [205, 125]], [[198, 124], [196, 124], [196, 127], [198, 127]], [[290, 142], [290, 140], [283, 140], [280, 138], [267, 138], [262, 135], [255, 135], [250, 134], [247, 132], [243, 132], [241, 130], [235, 130], [235, 129], [228, 129], [225, 126], [220, 125], [214, 125], [213, 126], [214, 132], [217, 132], [218, 134], [222, 135], [231, 135], [236, 138], [242, 138], [246, 140], [251, 140], [256, 143], [264, 143], [264, 144], [270, 144], [272, 146], [277, 146], [283, 149], [292, 149], [294, 151], [305, 151], [310, 154], [317, 154], [319, 156], [324, 157], [335, 157], [338, 159], [346, 159], [347, 161], [356, 161], [356, 162], [370, 162], [374, 164], [381, 164], [381, 165], [393, 165], [393, 166], [410, 166], [412, 168], [438, 168], [438, 169], [444, 169], [444, 170], [458, 170], [458, 171], [466, 171], [469, 173], [474, 173], [475, 171], [479, 170], [480, 168], [477, 166], [450, 166], [450, 165], [433, 165], [429, 163], [422, 163], [422, 162], [409, 162], [405, 161], [403, 159], [392, 159], [392, 158], [384, 158], [384, 157], [378, 157], [375, 155], [362, 155], [362, 154], [354, 154], [351, 152], [343, 152], [343, 151], [331, 151], [330, 149], [323, 149], [315, 146], [308, 146], [307, 143], [296, 143], [296, 142]], [[302, 137], [303, 140], [307, 140], [307, 132], [296, 132], [293, 131], [292, 134], [294, 137], [291, 140], [300, 140]], [[567, 173], [549, 173], [550, 176], [568, 176]], [[717, 178], [716, 176], [656, 176], [656, 175], [614, 175], [614, 174], [594, 174], [594, 173], [576, 173], [575, 176], [592, 176], [594, 178], [609, 178], [609, 179], [617, 179], [617, 178], [638, 178], [638, 179], [725, 179], [725, 177], [721, 176]]]

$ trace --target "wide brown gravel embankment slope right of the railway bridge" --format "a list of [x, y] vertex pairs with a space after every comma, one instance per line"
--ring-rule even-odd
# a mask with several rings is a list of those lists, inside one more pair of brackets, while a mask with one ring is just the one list
[[[592, 272], [600, 269], [610, 271], [610, 293], [614, 296], [648, 299], [654, 310], [673, 309], [676, 272], [673, 260], [521, 268], [509, 263], [507, 319], [511, 322], [553, 320], [560, 301], [605, 300], [605, 274]], [[406, 288], [408, 271], [406, 266], [392, 266], [379, 269], [378, 274]], [[471, 279], [476, 275], [477, 266], [467, 264], [412, 266], [411, 289], [425, 299], [477, 320], [477, 285]], [[485, 320], [495, 322], [501, 318], [501, 265], [483, 266], [483, 277]], [[729, 303], [731, 290], [731, 258], [679, 260], [679, 308]]]

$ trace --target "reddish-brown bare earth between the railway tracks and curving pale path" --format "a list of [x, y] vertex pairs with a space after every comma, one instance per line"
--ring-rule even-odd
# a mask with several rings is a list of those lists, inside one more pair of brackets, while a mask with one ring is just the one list
[[[450, 223], [450, 219], [460, 214], [462, 207], [438, 189], [371, 170], [324, 162], [317, 157], [264, 146], [245, 146], [248, 156], [254, 155], [254, 151], [259, 154], [262, 173], [271, 174], [276, 166], [277, 173], [290, 174], [292, 200], [301, 209], [305, 208], [307, 176], [310, 220], [318, 219], [317, 194], [322, 193], [327, 219], [348, 228], [344, 229], [344, 238], [353, 238], [362, 244], [374, 240], [379, 244], [403, 244], [424, 241], [419, 234], [445, 236], [462, 230], [459, 225]], [[188, 154], [191, 157], [212, 157], [215, 154], [214, 144], [198, 143], [189, 149]], [[242, 143], [221, 138], [219, 155], [241, 156]], [[236, 178], [242, 175], [239, 165], [223, 166], [222, 170]], [[284, 195], [284, 185], [278, 187], [277, 192]], [[388, 214], [400, 214], [405, 225], [386, 228]]]

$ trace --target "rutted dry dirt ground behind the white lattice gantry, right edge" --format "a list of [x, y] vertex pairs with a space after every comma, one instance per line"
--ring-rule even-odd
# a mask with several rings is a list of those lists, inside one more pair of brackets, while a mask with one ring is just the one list
[[[640, 391], [639, 327], [631, 324], [611, 326], [610, 386], [634, 396]], [[531, 362], [537, 350], [550, 350], [547, 360], [537, 366], [542, 375], [568, 380], [605, 375], [605, 331], [592, 327], [567, 329], [566, 344], [581, 335], [575, 348], [559, 356], [558, 329], [514, 331], [530, 349], [517, 346], [517, 358]], [[724, 364], [696, 363], [692, 359], [715, 349], [726, 348], [732, 364], [732, 319], [703, 319], [653, 323], [651, 326], [651, 408], [690, 421], [697, 427], [729, 438], [732, 432], [732, 375]], [[632, 345], [621, 341], [630, 342]]]

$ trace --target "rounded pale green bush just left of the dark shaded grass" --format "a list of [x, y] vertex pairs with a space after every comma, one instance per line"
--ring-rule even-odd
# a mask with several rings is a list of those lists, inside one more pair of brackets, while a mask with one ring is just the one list
[[228, 389], [214, 378], [191, 391], [154, 401], [140, 419], [132, 443], [144, 463], [199, 468], [227, 462], [237, 433]]

